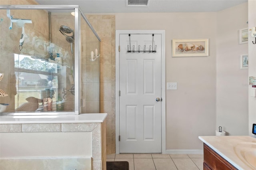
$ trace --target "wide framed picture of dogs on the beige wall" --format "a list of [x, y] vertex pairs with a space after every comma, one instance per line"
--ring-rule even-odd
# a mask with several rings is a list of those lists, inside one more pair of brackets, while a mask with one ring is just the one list
[[195, 57], [209, 55], [209, 40], [205, 39], [173, 39], [172, 57]]

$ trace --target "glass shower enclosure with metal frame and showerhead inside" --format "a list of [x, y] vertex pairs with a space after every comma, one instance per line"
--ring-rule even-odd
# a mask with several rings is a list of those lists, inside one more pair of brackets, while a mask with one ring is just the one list
[[0, 5], [0, 19], [0, 115], [100, 113], [100, 38], [78, 6]]

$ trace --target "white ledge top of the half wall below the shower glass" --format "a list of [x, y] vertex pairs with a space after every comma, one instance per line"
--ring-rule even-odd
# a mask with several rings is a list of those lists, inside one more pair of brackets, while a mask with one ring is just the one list
[[84, 113], [80, 115], [0, 116], [0, 124], [102, 123], [107, 115], [107, 113]]

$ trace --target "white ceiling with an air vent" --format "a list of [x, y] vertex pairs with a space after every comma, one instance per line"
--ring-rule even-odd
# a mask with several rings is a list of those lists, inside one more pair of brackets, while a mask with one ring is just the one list
[[150, 0], [148, 7], [126, 6], [126, 0], [36, 0], [40, 5], [79, 5], [83, 13], [216, 12], [248, 0]]

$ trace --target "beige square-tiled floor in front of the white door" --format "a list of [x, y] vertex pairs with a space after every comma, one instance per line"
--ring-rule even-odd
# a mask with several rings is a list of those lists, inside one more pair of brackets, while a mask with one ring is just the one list
[[202, 154], [108, 154], [107, 161], [128, 161], [130, 170], [203, 170]]

